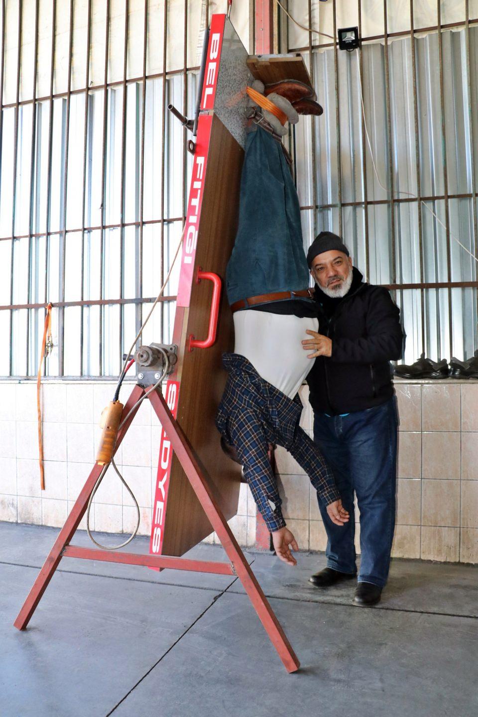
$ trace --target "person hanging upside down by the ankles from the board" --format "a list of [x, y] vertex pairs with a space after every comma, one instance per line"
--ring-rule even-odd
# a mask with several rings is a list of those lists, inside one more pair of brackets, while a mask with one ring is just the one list
[[[263, 92], [268, 95], [292, 123], [297, 122], [298, 112], [322, 113], [311, 88], [301, 82], [275, 83], [274, 92], [260, 82], [253, 86], [259, 98]], [[299, 425], [298, 390], [311, 369], [301, 340], [305, 331], [317, 331], [318, 321], [308, 288], [297, 191], [281, 142], [285, 131], [268, 110], [254, 108], [252, 120], [242, 169], [239, 227], [226, 272], [235, 345], [234, 353], [223, 356], [229, 377], [216, 427], [223, 450], [244, 466], [277, 556], [295, 565], [290, 546], [294, 551], [298, 546], [282, 516], [268, 456], [272, 445], [285, 447], [305, 470], [330, 521], [343, 526], [349, 514], [322, 452]]]

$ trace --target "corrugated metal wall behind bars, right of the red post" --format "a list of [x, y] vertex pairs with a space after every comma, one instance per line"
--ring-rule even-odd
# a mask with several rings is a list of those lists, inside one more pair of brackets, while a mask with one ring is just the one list
[[477, 255], [478, 27], [442, 29], [441, 47], [439, 37], [415, 37], [415, 52], [409, 35], [363, 44], [376, 172], [357, 50], [312, 50], [324, 114], [295, 128], [305, 243], [342, 233], [365, 277], [394, 287], [406, 363], [477, 348], [477, 262], [465, 249]]

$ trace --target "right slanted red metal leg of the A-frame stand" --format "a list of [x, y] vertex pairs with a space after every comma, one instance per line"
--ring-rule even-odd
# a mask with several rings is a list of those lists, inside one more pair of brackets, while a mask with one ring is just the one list
[[179, 462], [181, 462], [181, 466], [199, 502], [204, 508], [204, 512], [206, 516], [208, 516], [211, 526], [216, 531], [231, 564], [234, 566], [237, 576], [244, 585], [244, 589], [249, 595], [249, 599], [254, 605], [254, 609], [262, 625], [264, 625], [272, 645], [274, 645], [279, 653], [279, 657], [282, 663], [284, 663], [287, 672], [295, 672], [300, 667], [297, 655], [295, 655], [294, 650], [292, 650], [284, 630], [282, 630], [282, 627], [279, 625], [279, 621], [272, 607], [270, 607], [249, 563], [245, 559], [236, 538], [234, 538], [231, 532], [231, 528], [229, 528], [226, 519], [222, 515], [219, 505], [217, 505], [214, 495], [211, 492], [211, 488], [209, 488], [206, 478], [204, 478], [204, 475], [201, 473], [201, 468], [193, 455], [181, 426], [176, 422], [176, 419], [174, 419], [171, 411], [168, 409], [166, 401], [158, 391], [153, 391], [148, 398], [156, 411], [156, 415], [163, 429], [165, 429], [168, 434], [171, 446]]

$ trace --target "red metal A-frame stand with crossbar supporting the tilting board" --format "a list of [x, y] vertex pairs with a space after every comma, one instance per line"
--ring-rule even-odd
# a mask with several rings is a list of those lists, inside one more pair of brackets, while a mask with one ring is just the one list
[[[123, 417], [128, 414], [130, 409], [136, 404], [136, 402], [138, 402], [143, 394], [145, 394], [145, 389], [141, 386], [135, 386], [123, 409]], [[279, 657], [282, 660], [282, 663], [284, 663], [287, 672], [295, 672], [300, 666], [299, 660], [297, 660], [297, 656], [292, 650], [290, 642], [287, 640], [282, 627], [279, 625], [277, 617], [275, 617], [275, 614], [272, 611], [272, 607], [270, 607], [267, 598], [262, 592], [254, 573], [242, 553], [242, 550], [239, 548], [236, 538], [234, 538], [234, 535], [231, 533], [231, 529], [229, 528], [224, 515], [221, 513], [219, 505], [214, 499], [214, 495], [204, 478], [201, 468], [199, 467], [199, 463], [194, 457], [186, 436], [183, 434], [181, 427], [178, 422], [176, 422], [176, 419], [174, 419], [171, 411], [168, 409], [166, 401], [160, 391], [152, 391], [148, 395], [148, 399], [150, 400], [161, 425], [166, 430], [168, 438], [171, 440], [171, 446], [176, 453], [179, 462], [181, 462], [184, 473], [186, 473], [199, 503], [201, 503], [204, 508], [206, 516], [211, 522], [212, 528], [216, 531], [230, 563], [196, 561], [169, 556], [132, 554], [119, 551], [115, 552], [82, 548], [80, 546], [70, 545], [70, 541], [74, 536], [82, 517], [85, 515], [88, 500], [90, 499], [90, 495], [95, 487], [97, 478], [103, 468], [101, 465], [97, 465], [96, 463], [87, 478], [87, 481], [83, 486], [66, 523], [64, 523], [62, 530], [59, 532], [59, 536], [57, 537], [52, 550], [49, 552], [49, 556], [39, 572], [39, 575], [34, 582], [34, 585], [30, 590], [18, 617], [14, 622], [15, 627], [19, 630], [24, 630], [27, 627], [29, 620], [42, 599], [42, 595], [47, 589], [49, 581], [52, 579], [54, 571], [57, 569], [59, 561], [62, 557], [82, 558], [85, 560], [102, 560], [128, 565], [144, 565], [154, 568], [191, 570], [221, 575], [236, 575], [239, 577], [245, 591], [249, 595], [249, 599], [251, 600], [262, 625], [264, 625], [272, 645], [274, 645], [275, 649], [279, 653]], [[136, 408], [136, 411], [138, 408], [139, 406]], [[120, 443], [125, 437], [125, 433], [133, 421], [134, 416], [135, 412], [130, 415], [128, 421], [125, 422], [123, 428], [120, 432], [118, 432], [118, 440], [116, 442], [115, 450], [117, 450], [120, 446]]]

